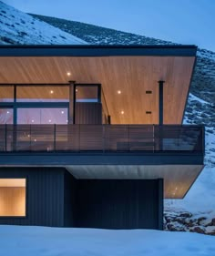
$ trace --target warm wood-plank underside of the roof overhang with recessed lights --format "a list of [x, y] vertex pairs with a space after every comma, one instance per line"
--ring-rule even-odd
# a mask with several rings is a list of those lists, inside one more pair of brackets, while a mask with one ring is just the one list
[[113, 124], [158, 124], [164, 80], [164, 123], [180, 124], [194, 62], [194, 56], [0, 57], [0, 83], [99, 83]]

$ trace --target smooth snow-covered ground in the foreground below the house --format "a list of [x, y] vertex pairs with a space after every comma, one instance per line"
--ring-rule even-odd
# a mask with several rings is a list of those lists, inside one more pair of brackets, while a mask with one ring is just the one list
[[3, 256], [214, 256], [215, 237], [159, 230], [0, 226]]

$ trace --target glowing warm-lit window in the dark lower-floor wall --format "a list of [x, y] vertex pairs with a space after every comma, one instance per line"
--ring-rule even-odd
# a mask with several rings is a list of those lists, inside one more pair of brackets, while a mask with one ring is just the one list
[[0, 217], [26, 216], [26, 179], [0, 179]]

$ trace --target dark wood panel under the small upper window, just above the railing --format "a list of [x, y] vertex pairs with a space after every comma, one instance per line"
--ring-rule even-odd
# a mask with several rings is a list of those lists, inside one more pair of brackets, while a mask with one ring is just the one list
[[100, 125], [102, 123], [101, 103], [77, 102], [75, 120], [76, 124]]

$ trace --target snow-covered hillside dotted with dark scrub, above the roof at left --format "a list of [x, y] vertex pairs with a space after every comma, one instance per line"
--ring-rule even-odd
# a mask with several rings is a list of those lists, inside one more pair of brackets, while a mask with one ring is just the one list
[[0, 44], [87, 44], [0, 1]]

